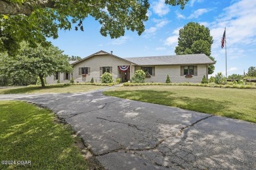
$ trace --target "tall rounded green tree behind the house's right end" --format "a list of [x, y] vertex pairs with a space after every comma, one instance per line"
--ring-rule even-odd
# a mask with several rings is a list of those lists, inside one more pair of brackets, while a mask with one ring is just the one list
[[[213, 37], [211, 37], [210, 30], [204, 25], [189, 22], [179, 30], [178, 45], [175, 48], [175, 53], [177, 55], [205, 54], [215, 61], [215, 58], [211, 56], [211, 44], [213, 44]], [[211, 75], [214, 69], [215, 66], [210, 64], [208, 74]]]

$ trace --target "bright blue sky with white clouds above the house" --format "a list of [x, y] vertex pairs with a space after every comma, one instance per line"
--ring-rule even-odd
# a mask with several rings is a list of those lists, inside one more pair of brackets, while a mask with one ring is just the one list
[[[58, 39], [49, 39], [69, 56], [84, 58], [99, 50], [114, 51], [121, 58], [175, 55], [179, 29], [188, 22], [205, 25], [213, 36], [211, 56], [217, 63], [215, 73], [225, 74], [225, 50], [221, 37], [226, 27], [227, 73], [243, 74], [256, 66], [256, 1], [190, 0], [184, 10], [165, 5], [164, 0], [150, 1], [149, 20], [142, 35], [126, 31], [119, 39], [100, 35], [94, 18], [83, 22], [84, 31], [59, 31]], [[75, 25], [74, 25], [75, 26]], [[73, 27], [74, 27], [73, 26]]]

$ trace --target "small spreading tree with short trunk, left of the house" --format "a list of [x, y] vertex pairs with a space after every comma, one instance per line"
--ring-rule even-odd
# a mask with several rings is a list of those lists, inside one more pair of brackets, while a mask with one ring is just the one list
[[28, 43], [22, 42], [20, 46], [18, 55], [7, 63], [9, 72], [22, 70], [27, 74], [37, 75], [42, 87], [45, 87], [43, 77], [54, 75], [56, 72], [72, 71], [72, 66], [67, 61], [68, 56], [53, 45], [43, 47], [37, 44], [37, 48], [32, 48]]

